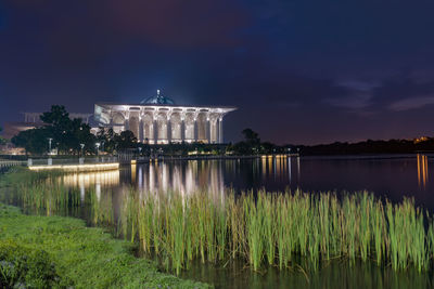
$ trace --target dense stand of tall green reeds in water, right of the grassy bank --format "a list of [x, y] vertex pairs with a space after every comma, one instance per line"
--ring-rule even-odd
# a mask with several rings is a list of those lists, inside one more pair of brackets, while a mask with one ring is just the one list
[[137, 215], [142, 249], [166, 255], [177, 273], [195, 258], [242, 258], [253, 270], [284, 268], [297, 255], [307, 257], [314, 268], [335, 258], [373, 259], [395, 270], [425, 271], [433, 263], [434, 226], [411, 199], [384, 207], [368, 193], [341, 200], [334, 193], [251, 192], [216, 203], [206, 192], [183, 198], [174, 192], [140, 194], [145, 197], [138, 212], [128, 215]]

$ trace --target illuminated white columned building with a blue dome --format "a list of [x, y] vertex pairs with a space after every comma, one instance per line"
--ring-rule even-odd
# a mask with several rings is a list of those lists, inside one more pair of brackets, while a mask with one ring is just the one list
[[139, 142], [222, 143], [222, 121], [226, 114], [235, 110], [228, 106], [176, 105], [173, 100], [157, 95], [140, 104], [94, 105], [94, 118], [100, 127], [113, 128], [116, 133], [130, 130]]

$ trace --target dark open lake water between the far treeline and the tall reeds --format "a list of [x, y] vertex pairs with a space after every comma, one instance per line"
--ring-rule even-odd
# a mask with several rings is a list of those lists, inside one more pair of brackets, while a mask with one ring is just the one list
[[[190, 160], [132, 165], [113, 175], [111, 183], [132, 184], [143, 191], [189, 194], [206, 188], [218, 196], [226, 188], [303, 192], [369, 191], [400, 201], [413, 197], [417, 205], [434, 209], [433, 155], [365, 157], [261, 157], [256, 159]], [[433, 180], [433, 181], [431, 181]], [[100, 181], [101, 182], [101, 181]]]

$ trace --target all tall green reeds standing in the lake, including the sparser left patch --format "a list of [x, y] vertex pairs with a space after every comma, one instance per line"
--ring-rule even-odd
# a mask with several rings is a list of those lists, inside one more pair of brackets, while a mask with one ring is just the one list
[[[89, 189], [85, 200], [77, 188], [55, 174], [21, 172], [15, 197], [25, 210], [55, 214], [90, 207], [94, 225], [115, 228], [144, 257], [157, 257], [177, 274], [192, 260], [227, 262], [241, 259], [253, 271], [299, 266], [309, 271], [333, 260], [375, 262], [395, 271], [426, 272], [433, 267], [432, 214], [405, 198], [399, 203], [373, 194], [258, 192], [210, 196], [124, 189], [115, 220], [111, 194]], [[17, 178], [10, 174], [10, 178]], [[59, 176], [59, 174], [58, 174]]]

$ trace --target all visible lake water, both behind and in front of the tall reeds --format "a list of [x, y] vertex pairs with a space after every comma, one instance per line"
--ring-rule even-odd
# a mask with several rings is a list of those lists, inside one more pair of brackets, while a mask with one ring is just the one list
[[[174, 191], [182, 195], [206, 189], [220, 199], [225, 194], [266, 189], [283, 192], [358, 192], [400, 201], [413, 197], [418, 206], [434, 212], [434, 155], [363, 156], [363, 157], [261, 157], [255, 159], [162, 161], [131, 165], [118, 171], [68, 174], [66, 184], [79, 187], [80, 210], [66, 212], [91, 222], [92, 206], [86, 202], [92, 189], [97, 201], [107, 203], [114, 220], [119, 215], [124, 191], [135, 186], [144, 192]], [[232, 189], [232, 191], [231, 191]], [[92, 200], [94, 201], [94, 200]], [[17, 203], [20, 205], [20, 203]], [[116, 221], [114, 222], [116, 223]], [[279, 272], [267, 268], [255, 273], [245, 263], [191, 264], [181, 277], [202, 280], [218, 288], [427, 288], [433, 274], [419, 274], [413, 268], [394, 272], [373, 263], [336, 261], [322, 264], [319, 272], [307, 267]]]

